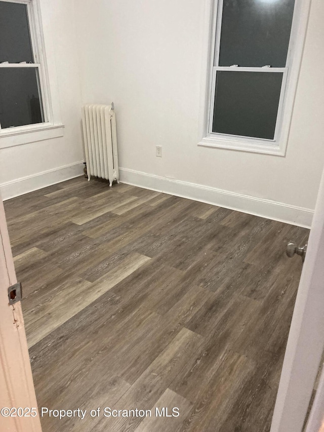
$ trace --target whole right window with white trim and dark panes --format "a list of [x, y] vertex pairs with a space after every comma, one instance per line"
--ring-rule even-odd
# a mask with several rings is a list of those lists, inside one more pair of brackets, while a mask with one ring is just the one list
[[285, 154], [298, 74], [297, 4], [215, 2], [206, 138], [199, 144]]

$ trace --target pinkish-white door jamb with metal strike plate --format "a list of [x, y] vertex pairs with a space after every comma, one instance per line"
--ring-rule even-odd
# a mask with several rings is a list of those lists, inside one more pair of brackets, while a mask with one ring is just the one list
[[9, 304], [17, 280], [1, 196], [0, 202], [0, 430], [40, 432], [21, 305]]

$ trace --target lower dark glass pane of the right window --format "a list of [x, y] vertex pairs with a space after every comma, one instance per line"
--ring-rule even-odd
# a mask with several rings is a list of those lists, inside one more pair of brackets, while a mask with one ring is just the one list
[[217, 71], [213, 132], [273, 139], [282, 75]]

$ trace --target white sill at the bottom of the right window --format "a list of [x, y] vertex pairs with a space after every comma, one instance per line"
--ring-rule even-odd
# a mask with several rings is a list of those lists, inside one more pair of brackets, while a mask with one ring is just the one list
[[285, 156], [284, 149], [282, 149], [278, 144], [260, 144], [258, 142], [253, 143], [252, 141], [247, 142], [239, 139], [214, 138], [207, 136], [198, 142], [198, 146]]

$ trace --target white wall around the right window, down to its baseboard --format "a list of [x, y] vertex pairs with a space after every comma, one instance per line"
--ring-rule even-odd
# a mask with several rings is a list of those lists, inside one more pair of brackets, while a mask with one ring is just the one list
[[206, 4], [77, 0], [83, 102], [115, 102], [125, 181], [308, 225], [324, 162], [324, 3], [312, 0], [285, 158], [197, 146]]

